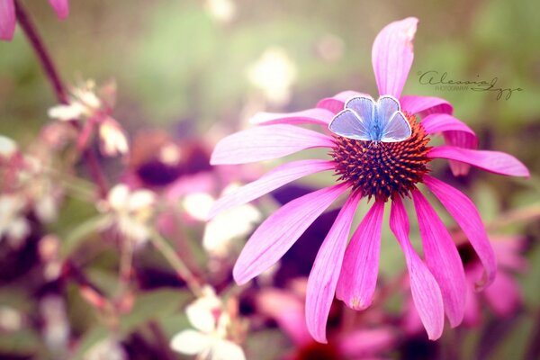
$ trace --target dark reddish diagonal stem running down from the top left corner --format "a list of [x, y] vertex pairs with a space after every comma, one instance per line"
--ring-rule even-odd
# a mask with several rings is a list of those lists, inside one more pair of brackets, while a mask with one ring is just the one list
[[[52, 58], [50, 58], [49, 56], [49, 51], [47, 51], [45, 44], [41, 40], [39, 32], [32, 23], [29, 15], [24, 10], [21, 2], [19, 0], [15, 0], [14, 4], [17, 22], [19, 23], [19, 25], [24, 31], [24, 34], [30, 41], [31, 47], [32, 49], [34, 49], [37, 58], [40, 60], [41, 67], [43, 68], [45, 75], [49, 79], [50, 85], [52, 85], [52, 89], [54, 94], [56, 95], [58, 103], [69, 103], [69, 99], [67, 98], [66, 86], [62, 82], [62, 79], [58, 74], [58, 70], [54, 66]], [[74, 123], [76, 124], [75, 126], [77, 130], [79, 130], [79, 125], [76, 122]], [[103, 175], [103, 171], [99, 166], [99, 162], [94, 155], [94, 152], [90, 149], [86, 149], [84, 152], [84, 157], [86, 165], [90, 169], [90, 173], [94, 178], [95, 183], [99, 187], [100, 196], [105, 197], [108, 192], [108, 185], [105, 176]]]

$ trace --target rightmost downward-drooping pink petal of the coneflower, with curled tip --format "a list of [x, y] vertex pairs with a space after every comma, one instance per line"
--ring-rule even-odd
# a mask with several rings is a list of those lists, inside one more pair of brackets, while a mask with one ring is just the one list
[[464, 234], [469, 238], [474, 251], [480, 258], [484, 275], [482, 279], [477, 279], [477, 285], [484, 287], [493, 283], [497, 274], [497, 259], [474, 203], [464, 193], [435, 177], [424, 176], [424, 184], [437, 196], [460, 228], [464, 230]]

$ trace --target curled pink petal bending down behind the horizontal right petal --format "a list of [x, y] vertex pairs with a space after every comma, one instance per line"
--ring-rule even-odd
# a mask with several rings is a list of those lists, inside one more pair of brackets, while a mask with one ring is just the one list
[[[422, 120], [422, 126], [428, 134], [442, 132], [448, 145], [458, 148], [478, 147], [478, 139], [474, 131], [452, 115], [445, 113], [428, 115]], [[462, 162], [450, 160], [450, 168], [455, 176], [467, 175], [470, 167]]]

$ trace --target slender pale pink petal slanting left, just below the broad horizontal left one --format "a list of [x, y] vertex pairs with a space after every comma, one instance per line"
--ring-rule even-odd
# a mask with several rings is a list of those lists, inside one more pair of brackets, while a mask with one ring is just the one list
[[253, 183], [239, 187], [221, 197], [213, 204], [208, 217], [211, 219], [221, 211], [255, 200], [303, 176], [331, 170], [334, 167], [335, 164], [328, 160], [300, 160], [278, 166]]

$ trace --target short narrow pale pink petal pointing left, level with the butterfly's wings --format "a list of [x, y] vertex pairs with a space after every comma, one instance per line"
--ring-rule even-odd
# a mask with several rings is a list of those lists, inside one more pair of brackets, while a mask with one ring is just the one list
[[258, 112], [249, 119], [249, 122], [256, 125], [270, 125], [277, 123], [305, 124], [313, 123], [322, 126], [329, 126], [330, 120], [334, 117], [334, 112], [324, 108], [304, 110], [302, 112]]

